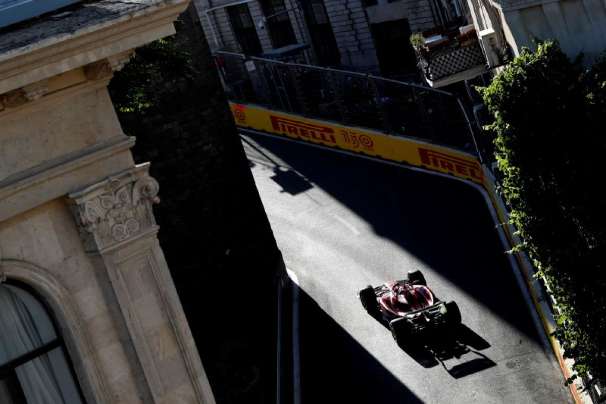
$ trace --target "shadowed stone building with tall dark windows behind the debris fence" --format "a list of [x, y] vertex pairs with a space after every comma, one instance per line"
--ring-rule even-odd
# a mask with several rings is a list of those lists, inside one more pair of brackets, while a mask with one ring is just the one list
[[458, 0], [194, 2], [213, 50], [259, 56], [284, 44], [309, 44], [297, 61], [393, 78], [418, 75], [411, 33], [443, 24], [454, 10], [467, 17]]

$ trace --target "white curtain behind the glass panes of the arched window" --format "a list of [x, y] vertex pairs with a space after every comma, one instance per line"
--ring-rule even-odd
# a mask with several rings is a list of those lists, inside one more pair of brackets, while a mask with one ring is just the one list
[[[44, 345], [49, 321], [36, 323], [36, 316], [11, 286], [0, 285], [0, 363], [5, 363]], [[42, 355], [15, 369], [28, 404], [65, 403], [57, 377]]]

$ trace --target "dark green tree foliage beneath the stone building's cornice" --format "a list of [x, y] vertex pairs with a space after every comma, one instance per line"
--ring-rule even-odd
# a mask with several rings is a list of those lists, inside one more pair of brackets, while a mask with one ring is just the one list
[[[181, 27], [178, 23], [177, 30]], [[116, 109], [144, 112], [158, 102], [160, 85], [194, 79], [196, 69], [179, 41], [182, 39], [173, 35], [135, 50], [135, 57], [115, 73], [108, 86]]]

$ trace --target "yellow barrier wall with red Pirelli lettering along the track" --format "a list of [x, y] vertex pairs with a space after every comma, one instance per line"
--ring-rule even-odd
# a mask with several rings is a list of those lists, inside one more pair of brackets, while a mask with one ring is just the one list
[[487, 182], [481, 165], [471, 154], [430, 143], [413, 141], [370, 130], [335, 123], [315, 121], [300, 116], [267, 110], [258, 106], [230, 103], [236, 125], [301, 139], [343, 150], [405, 162], [484, 184]]

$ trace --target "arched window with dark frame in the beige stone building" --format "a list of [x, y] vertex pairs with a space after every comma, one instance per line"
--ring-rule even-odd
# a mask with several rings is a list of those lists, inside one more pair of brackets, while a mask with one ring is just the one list
[[65, 345], [34, 290], [0, 284], [0, 403], [81, 403]]

